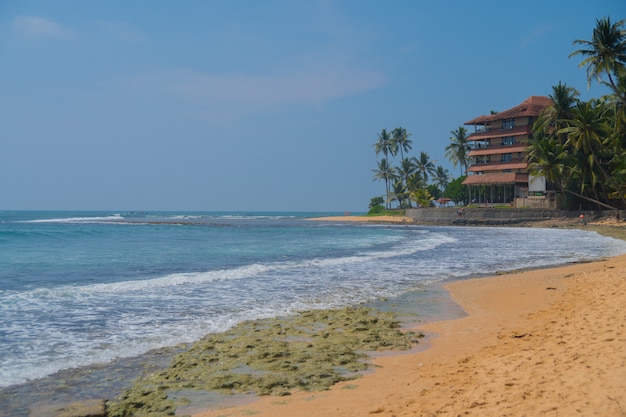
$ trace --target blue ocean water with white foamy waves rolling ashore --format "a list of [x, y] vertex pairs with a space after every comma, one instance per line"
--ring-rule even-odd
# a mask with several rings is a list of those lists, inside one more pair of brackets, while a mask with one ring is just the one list
[[333, 214], [0, 212], [0, 387], [244, 320], [626, 253], [579, 229], [307, 220]]

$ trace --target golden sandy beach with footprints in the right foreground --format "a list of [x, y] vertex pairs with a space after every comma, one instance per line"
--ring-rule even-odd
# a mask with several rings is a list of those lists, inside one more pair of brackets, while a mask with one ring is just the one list
[[427, 349], [328, 391], [195, 417], [626, 415], [626, 255], [447, 289], [468, 315], [418, 327]]

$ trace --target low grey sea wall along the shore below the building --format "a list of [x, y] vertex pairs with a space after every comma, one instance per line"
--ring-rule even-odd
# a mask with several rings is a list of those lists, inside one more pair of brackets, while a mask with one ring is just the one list
[[[515, 225], [545, 220], [578, 219], [580, 212], [529, 208], [465, 208], [459, 215], [458, 208], [416, 208], [405, 212], [417, 224], [432, 225]], [[616, 211], [584, 211], [589, 220], [615, 216]], [[621, 216], [623, 218], [624, 211]]]

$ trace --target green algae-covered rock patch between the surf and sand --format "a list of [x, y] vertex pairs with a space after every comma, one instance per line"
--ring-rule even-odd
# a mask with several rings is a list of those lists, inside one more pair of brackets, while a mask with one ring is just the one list
[[314, 310], [243, 322], [208, 335], [176, 355], [169, 368], [135, 382], [109, 416], [174, 415], [183, 390], [289, 395], [358, 378], [368, 351], [407, 350], [421, 334], [403, 332], [394, 313], [368, 307]]

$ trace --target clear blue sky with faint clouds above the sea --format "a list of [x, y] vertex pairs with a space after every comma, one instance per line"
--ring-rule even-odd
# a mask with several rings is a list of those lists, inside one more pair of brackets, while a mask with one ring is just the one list
[[366, 211], [373, 143], [549, 95], [623, 0], [0, 2], [0, 209]]

